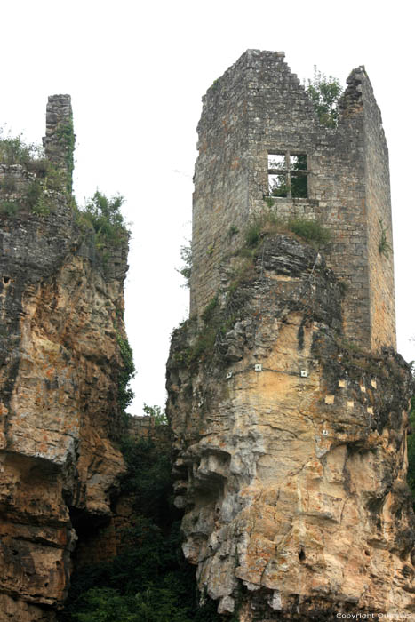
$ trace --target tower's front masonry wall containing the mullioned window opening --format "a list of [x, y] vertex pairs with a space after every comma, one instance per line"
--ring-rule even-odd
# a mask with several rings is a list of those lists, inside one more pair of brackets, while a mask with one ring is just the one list
[[[283, 219], [319, 219], [330, 227], [333, 242], [329, 260], [348, 290], [343, 304], [345, 328], [353, 339], [369, 344], [369, 276], [362, 211], [363, 120], [349, 114], [346, 122], [340, 121], [338, 130], [324, 127], [282, 53], [275, 57], [273, 52], [252, 51], [251, 57], [255, 68], [255, 80], [249, 82], [251, 210], [264, 210], [268, 154], [288, 150], [307, 154], [311, 171], [308, 199], [277, 198], [272, 211]], [[347, 112], [351, 110], [347, 108]]]

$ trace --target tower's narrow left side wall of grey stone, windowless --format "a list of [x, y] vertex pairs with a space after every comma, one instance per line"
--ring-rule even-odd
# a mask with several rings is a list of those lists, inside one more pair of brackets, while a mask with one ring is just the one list
[[246, 84], [244, 59], [211, 85], [197, 127], [190, 281], [191, 313], [202, 310], [219, 287], [217, 267], [235, 248], [232, 227], [248, 219]]

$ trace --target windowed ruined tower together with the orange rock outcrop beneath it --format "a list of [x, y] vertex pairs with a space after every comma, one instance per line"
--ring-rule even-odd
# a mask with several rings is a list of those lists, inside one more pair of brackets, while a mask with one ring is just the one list
[[[395, 354], [387, 145], [364, 68], [319, 123], [282, 52], [204, 96], [168, 417], [184, 553], [224, 619], [415, 616], [411, 374]], [[275, 190], [274, 192], [271, 192]], [[270, 195], [271, 194], [271, 195]], [[309, 245], [254, 217], [309, 219]]]

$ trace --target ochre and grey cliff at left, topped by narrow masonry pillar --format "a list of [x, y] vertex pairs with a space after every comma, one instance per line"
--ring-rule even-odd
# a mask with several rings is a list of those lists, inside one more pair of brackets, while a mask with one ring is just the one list
[[[49, 132], [46, 152], [69, 153], [68, 119], [68, 96], [51, 98], [55, 138]], [[30, 183], [43, 183], [40, 173], [0, 167], [2, 621], [54, 619], [68, 591], [76, 531], [108, 521], [124, 472], [113, 439], [127, 246], [99, 252], [93, 233], [76, 225], [69, 160], [58, 158], [60, 171], [68, 167], [62, 187], [44, 193], [43, 213], [40, 203], [19, 203]]]

